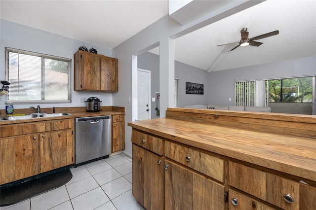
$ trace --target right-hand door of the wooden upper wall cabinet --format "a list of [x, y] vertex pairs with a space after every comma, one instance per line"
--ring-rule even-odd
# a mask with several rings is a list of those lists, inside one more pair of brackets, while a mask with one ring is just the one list
[[102, 57], [100, 90], [118, 92], [118, 59]]

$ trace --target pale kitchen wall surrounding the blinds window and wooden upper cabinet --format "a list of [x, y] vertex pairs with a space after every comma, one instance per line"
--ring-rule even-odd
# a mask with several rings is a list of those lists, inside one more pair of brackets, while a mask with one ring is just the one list
[[[74, 53], [82, 45], [88, 49], [95, 48], [98, 54], [112, 57], [112, 50], [65, 36], [47, 33], [35, 28], [23, 26], [0, 19], [0, 79], [6, 80], [5, 77], [5, 56], [4, 47], [27, 50], [31, 52], [54, 55], [72, 59], [71, 66], [71, 93], [72, 102], [67, 104], [42, 104], [41, 107], [69, 107], [69, 106], [85, 106], [85, 103], [80, 103], [80, 97], [89, 98], [91, 96], [99, 98], [101, 106], [112, 105], [112, 93], [102, 93], [95, 91], [74, 91]], [[5, 108], [5, 97], [1, 96], [0, 109]], [[27, 105], [14, 105], [14, 108], [28, 108]], [[33, 105], [34, 106], [34, 105]]]

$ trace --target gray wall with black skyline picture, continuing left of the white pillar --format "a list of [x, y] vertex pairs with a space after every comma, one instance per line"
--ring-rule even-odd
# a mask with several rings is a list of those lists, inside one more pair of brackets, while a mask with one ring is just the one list
[[[151, 95], [155, 97], [155, 92], [159, 91], [159, 56], [153, 53], [144, 53], [137, 57], [139, 69], [151, 71]], [[208, 96], [207, 72], [180, 62], [175, 62], [175, 77], [179, 78], [178, 97], [179, 107], [186, 105], [206, 105]], [[204, 85], [203, 95], [186, 94], [186, 82], [194, 82]], [[155, 109], [156, 102], [152, 102], [152, 119], [157, 118]]]

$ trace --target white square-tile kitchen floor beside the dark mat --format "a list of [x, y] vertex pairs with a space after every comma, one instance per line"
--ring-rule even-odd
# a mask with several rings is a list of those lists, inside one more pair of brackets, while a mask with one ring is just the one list
[[132, 196], [132, 159], [125, 154], [71, 172], [65, 185], [0, 210], [145, 210]]

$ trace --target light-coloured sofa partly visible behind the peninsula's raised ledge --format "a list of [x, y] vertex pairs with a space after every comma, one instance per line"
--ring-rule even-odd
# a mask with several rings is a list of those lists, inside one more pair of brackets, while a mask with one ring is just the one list
[[221, 109], [221, 110], [233, 110], [233, 111], [258, 111], [258, 112], [271, 112], [271, 107], [263, 106], [219, 106], [219, 105], [188, 105], [184, 108], [208, 108], [208, 109]]

